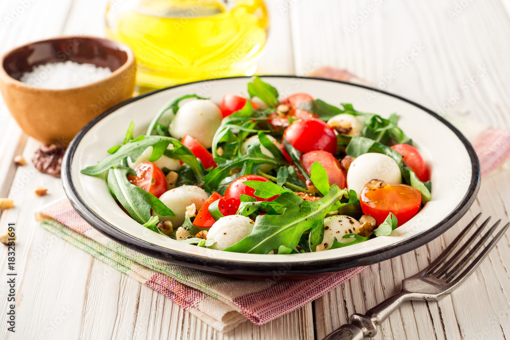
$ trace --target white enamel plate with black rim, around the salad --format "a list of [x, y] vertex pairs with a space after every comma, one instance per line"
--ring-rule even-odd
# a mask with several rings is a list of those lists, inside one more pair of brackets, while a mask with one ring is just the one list
[[[438, 237], [473, 203], [479, 187], [479, 164], [473, 147], [437, 114], [399, 96], [365, 86], [293, 76], [262, 79], [282, 97], [305, 92], [330, 104], [352, 103], [356, 110], [388, 117], [396, 112], [399, 127], [413, 139], [431, 169], [432, 200], [394, 235], [340, 249], [289, 255], [241, 254], [199, 248], [171, 240], [141, 226], [112, 198], [103, 179], [80, 170], [106, 158], [106, 150], [123, 140], [131, 121], [135, 136], [146, 130], [156, 112], [171, 98], [196, 93], [219, 103], [226, 93], [246, 94], [247, 77], [185, 84], [148, 93], [107, 111], [73, 139], [62, 168], [64, 189], [74, 208], [108, 237], [152, 257], [230, 275], [302, 275], [369, 265], [411, 251]], [[283, 270], [282, 270], [283, 269]]]

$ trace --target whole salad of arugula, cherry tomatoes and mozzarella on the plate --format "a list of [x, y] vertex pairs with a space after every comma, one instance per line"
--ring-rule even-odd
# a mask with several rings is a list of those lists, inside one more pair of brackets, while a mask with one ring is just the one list
[[[179, 242], [258, 254], [324, 251], [390, 236], [431, 199], [428, 169], [398, 116], [283, 100], [254, 77], [249, 98], [171, 100], [145, 135], [131, 122], [99, 176], [124, 212]], [[127, 124], [126, 124], [127, 125]]]

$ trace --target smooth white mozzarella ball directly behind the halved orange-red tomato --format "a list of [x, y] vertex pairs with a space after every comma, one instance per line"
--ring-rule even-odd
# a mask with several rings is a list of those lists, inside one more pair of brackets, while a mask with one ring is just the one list
[[384, 180], [388, 184], [400, 184], [400, 168], [390, 156], [382, 153], [364, 153], [356, 158], [347, 171], [347, 188], [361, 196], [363, 187], [372, 179]]

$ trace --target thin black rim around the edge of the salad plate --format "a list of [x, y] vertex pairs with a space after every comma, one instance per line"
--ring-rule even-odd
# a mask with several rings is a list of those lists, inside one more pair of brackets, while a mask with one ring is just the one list
[[[83, 199], [78, 194], [76, 187], [74, 186], [73, 178], [71, 176], [71, 163], [73, 160], [74, 152], [79, 145], [82, 138], [85, 134], [94, 126], [97, 122], [99, 122], [104, 117], [109, 114], [115, 112], [119, 108], [129, 104], [133, 101], [140, 100], [142, 98], [151, 96], [155, 93], [159, 93], [161, 91], [166, 91], [168, 89], [173, 89], [189, 84], [197, 84], [208, 82], [211, 80], [198, 81], [192, 83], [186, 83], [176, 86], [167, 87], [164, 89], [159, 89], [156, 91], [152, 91], [138, 97], [134, 97], [119, 103], [117, 106], [111, 108], [105, 113], [101, 114], [90, 123], [88, 123], [77, 136], [69, 144], [67, 151], [64, 155], [64, 159], [62, 162], [62, 182], [64, 186], [65, 193], [69, 198], [72, 206], [78, 212], [80, 216], [82, 216], [88, 223], [90, 223], [95, 229], [99, 232], [105, 234], [108, 238], [118, 242], [119, 244], [146, 254], [151, 257], [155, 257], [158, 259], [162, 259], [165, 261], [169, 261], [170, 263], [186, 266], [194, 269], [204, 270], [216, 274], [223, 275], [234, 275], [234, 276], [256, 276], [256, 277], [285, 277], [285, 276], [305, 276], [311, 274], [321, 274], [321, 273], [330, 273], [330, 272], [339, 272], [342, 270], [367, 266], [375, 263], [379, 263], [380, 261], [390, 259], [392, 257], [396, 257], [403, 253], [414, 250], [420, 246], [425, 245], [426, 243], [436, 239], [446, 230], [451, 228], [458, 220], [460, 220], [469, 210], [471, 205], [473, 204], [476, 194], [478, 193], [478, 189], [480, 186], [480, 165], [478, 162], [478, 158], [473, 149], [473, 146], [469, 143], [469, 141], [464, 137], [464, 135], [455, 128], [451, 123], [446, 121], [444, 118], [439, 116], [438, 114], [424, 108], [418, 103], [411, 101], [409, 99], [402, 98], [398, 95], [388, 93], [386, 91], [382, 91], [379, 89], [375, 89], [369, 86], [352, 84], [347, 82], [322, 79], [316, 77], [301, 77], [301, 76], [292, 76], [292, 75], [261, 75], [263, 78], [293, 78], [293, 79], [311, 79], [318, 80], [323, 82], [331, 82], [331, 83], [340, 83], [348, 86], [360, 87], [363, 89], [368, 89], [371, 91], [379, 92], [386, 94], [388, 96], [403, 100], [407, 103], [412, 104], [413, 106], [425, 111], [429, 115], [437, 118], [443, 124], [445, 124], [448, 128], [452, 130], [452, 132], [457, 136], [458, 139], [464, 144], [466, 148], [469, 158], [471, 160], [471, 179], [468, 191], [466, 195], [463, 197], [462, 201], [455, 207], [455, 209], [448, 214], [443, 220], [437, 223], [435, 226], [425, 230], [421, 233], [416, 234], [415, 236], [405, 239], [403, 241], [397, 242], [390, 246], [385, 247], [382, 250], [372, 250], [363, 254], [358, 255], [349, 255], [342, 256], [330, 259], [322, 259], [322, 260], [307, 260], [307, 261], [291, 261], [291, 262], [273, 262], [273, 263], [250, 263], [245, 261], [235, 261], [235, 260], [223, 260], [223, 259], [215, 259], [208, 258], [193, 254], [186, 254], [180, 251], [175, 251], [172, 249], [163, 248], [160, 246], [156, 246], [135, 238], [130, 234], [127, 234], [119, 229], [117, 229], [112, 224], [106, 222], [100, 216], [95, 214], [92, 209], [83, 201]], [[227, 77], [222, 79], [250, 79], [248, 76], [238, 76], [238, 77]], [[214, 81], [222, 81], [222, 79], [214, 79]], [[235, 254], [233, 253], [235, 256]]]

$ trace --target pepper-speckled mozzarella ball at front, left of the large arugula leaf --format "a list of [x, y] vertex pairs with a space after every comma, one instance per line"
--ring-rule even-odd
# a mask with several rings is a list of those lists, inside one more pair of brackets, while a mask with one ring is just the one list
[[251, 233], [254, 224], [249, 217], [242, 215], [220, 218], [207, 233], [207, 239], [214, 240], [210, 248], [223, 250], [235, 245]]

